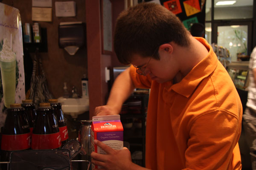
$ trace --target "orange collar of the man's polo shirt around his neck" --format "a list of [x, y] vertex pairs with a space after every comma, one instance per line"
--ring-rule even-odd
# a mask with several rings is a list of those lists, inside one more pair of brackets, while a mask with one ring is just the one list
[[[187, 74], [180, 82], [169, 86], [167, 91], [175, 91], [185, 97], [189, 97], [194, 91], [198, 84], [205, 78], [208, 77], [218, 65], [218, 58], [214, 53], [211, 45], [204, 38], [195, 37], [201, 42], [209, 51], [208, 55], [204, 57], [194, 68]], [[171, 83], [172, 84], [172, 83]]]

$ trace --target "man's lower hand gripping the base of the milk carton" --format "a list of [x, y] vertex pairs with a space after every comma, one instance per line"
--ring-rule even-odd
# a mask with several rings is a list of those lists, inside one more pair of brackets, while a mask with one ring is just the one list
[[122, 150], [114, 150], [106, 144], [94, 140], [94, 143], [101, 147], [106, 155], [91, 153], [92, 163], [103, 167], [105, 170], [132, 170], [131, 152], [124, 147]]

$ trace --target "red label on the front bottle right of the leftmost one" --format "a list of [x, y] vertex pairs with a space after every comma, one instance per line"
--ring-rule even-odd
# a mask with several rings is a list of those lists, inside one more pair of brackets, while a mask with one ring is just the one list
[[41, 149], [57, 149], [61, 147], [60, 133], [52, 134], [32, 134], [31, 148], [35, 150]]

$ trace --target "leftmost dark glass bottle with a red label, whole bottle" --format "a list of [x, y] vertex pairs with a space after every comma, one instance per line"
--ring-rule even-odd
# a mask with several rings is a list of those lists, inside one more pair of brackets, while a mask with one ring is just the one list
[[[13, 150], [27, 150], [31, 144], [29, 123], [26, 119], [25, 109], [21, 104], [11, 104], [6, 110], [6, 120], [3, 125], [1, 140], [1, 161], [9, 161]], [[7, 169], [7, 164], [1, 164]]]

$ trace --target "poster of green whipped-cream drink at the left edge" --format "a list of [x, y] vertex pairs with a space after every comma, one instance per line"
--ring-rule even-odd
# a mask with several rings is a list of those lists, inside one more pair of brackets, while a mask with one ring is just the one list
[[20, 12], [0, 3], [0, 127], [10, 104], [25, 99]]

